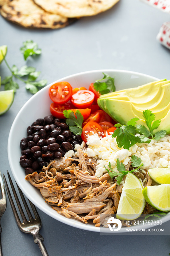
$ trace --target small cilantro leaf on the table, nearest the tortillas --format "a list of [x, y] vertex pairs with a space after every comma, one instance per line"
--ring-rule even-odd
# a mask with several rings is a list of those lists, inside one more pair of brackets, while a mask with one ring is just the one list
[[38, 49], [38, 44], [32, 40], [23, 42], [23, 46], [20, 48], [20, 51], [24, 55], [24, 60], [27, 60], [29, 56], [41, 53], [41, 49]]

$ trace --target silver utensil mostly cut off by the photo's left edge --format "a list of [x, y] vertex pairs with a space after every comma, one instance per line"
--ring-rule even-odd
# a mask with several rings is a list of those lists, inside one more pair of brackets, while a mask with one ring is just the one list
[[[0, 189], [1, 189], [1, 196], [2, 196], [2, 199], [0, 199], [0, 220], [1, 220], [1, 217], [4, 214], [4, 212], [6, 210], [6, 206], [7, 206], [5, 187], [4, 187], [4, 182], [2, 179], [1, 172], [0, 172]], [[1, 232], [2, 232], [2, 228], [1, 228], [1, 224], [0, 224], [0, 256], [2, 256]]]

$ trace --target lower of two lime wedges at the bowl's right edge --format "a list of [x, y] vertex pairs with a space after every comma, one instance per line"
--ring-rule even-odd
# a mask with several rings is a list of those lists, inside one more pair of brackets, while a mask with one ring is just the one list
[[145, 187], [142, 191], [146, 201], [159, 211], [170, 211], [170, 184]]

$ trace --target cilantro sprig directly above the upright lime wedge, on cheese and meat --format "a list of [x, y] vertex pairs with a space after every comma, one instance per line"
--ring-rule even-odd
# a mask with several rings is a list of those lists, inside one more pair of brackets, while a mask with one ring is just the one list
[[119, 171], [119, 173], [115, 172], [115, 171], [112, 169], [112, 167], [111, 167], [111, 162], [109, 162], [109, 164], [108, 164], [110, 170], [107, 169], [106, 167], [105, 167], [105, 169], [107, 170], [107, 172], [108, 172], [108, 174], [109, 174], [109, 176], [110, 176], [111, 178], [117, 176], [117, 177], [116, 177], [116, 183], [117, 183], [118, 185], [120, 185], [120, 183], [121, 183], [123, 177], [124, 177], [125, 175], [127, 175], [128, 172], [130, 172], [130, 173], [136, 172], [141, 166], [143, 166], [142, 160], [140, 159], [140, 157], [137, 157], [136, 155], [132, 155], [132, 157], [131, 157], [131, 164], [132, 164], [133, 167], [137, 167], [137, 168], [134, 169], [134, 170], [131, 170], [131, 171], [127, 171], [127, 170], [125, 169], [124, 164], [123, 164], [123, 163], [120, 163], [119, 158], [117, 158], [117, 161], [116, 161], [116, 168], [117, 168], [117, 170]]

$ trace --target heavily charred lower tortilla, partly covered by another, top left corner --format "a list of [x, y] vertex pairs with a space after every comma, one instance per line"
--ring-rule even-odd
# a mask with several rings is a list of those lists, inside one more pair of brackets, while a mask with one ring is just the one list
[[76, 20], [46, 12], [32, 0], [0, 0], [0, 6], [5, 19], [23, 27], [60, 29]]

